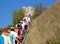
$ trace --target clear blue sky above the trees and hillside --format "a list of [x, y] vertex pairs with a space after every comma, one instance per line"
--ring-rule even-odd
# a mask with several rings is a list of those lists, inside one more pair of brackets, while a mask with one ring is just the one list
[[14, 10], [19, 10], [23, 6], [33, 6], [39, 3], [50, 7], [55, 2], [56, 0], [0, 0], [0, 28], [7, 27], [12, 23]]

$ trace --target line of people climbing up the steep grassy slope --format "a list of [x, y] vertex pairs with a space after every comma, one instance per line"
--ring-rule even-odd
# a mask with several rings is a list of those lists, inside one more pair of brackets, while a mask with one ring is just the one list
[[10, 30], [4, 29], [2, 33], [0, 31], [0, 44], [23, 44], [25, 33], [31, 24], [30, 17], [24, 17], [18, 24], [11, 26]]

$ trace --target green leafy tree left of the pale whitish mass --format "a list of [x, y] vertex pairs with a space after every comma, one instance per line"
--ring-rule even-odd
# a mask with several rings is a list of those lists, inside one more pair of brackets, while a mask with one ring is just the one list
[[24, 10], [14, 11], [13, 13], [13, 24], [17, 24], [18, 21], [22, 20], [24, 17]]

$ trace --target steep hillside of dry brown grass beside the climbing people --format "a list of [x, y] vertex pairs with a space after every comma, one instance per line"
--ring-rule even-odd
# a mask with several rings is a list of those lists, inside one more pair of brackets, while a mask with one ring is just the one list
[[60, 2], [42, 13], [32, 23], [25, 44], [59, 44]]

